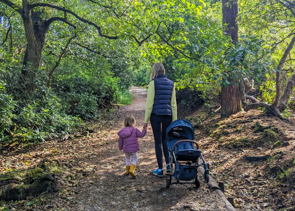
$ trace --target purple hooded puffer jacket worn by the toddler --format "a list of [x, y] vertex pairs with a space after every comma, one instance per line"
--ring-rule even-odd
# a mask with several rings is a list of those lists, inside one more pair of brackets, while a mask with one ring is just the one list
[[118, 132], [119, 149], [123, 149], [123, 152], [138, 152], [138, 138], [144, 137], [146, 133], [146, 129], [143, 129], [142, 132], [140, 132], [136, 127], [124, 127]]

